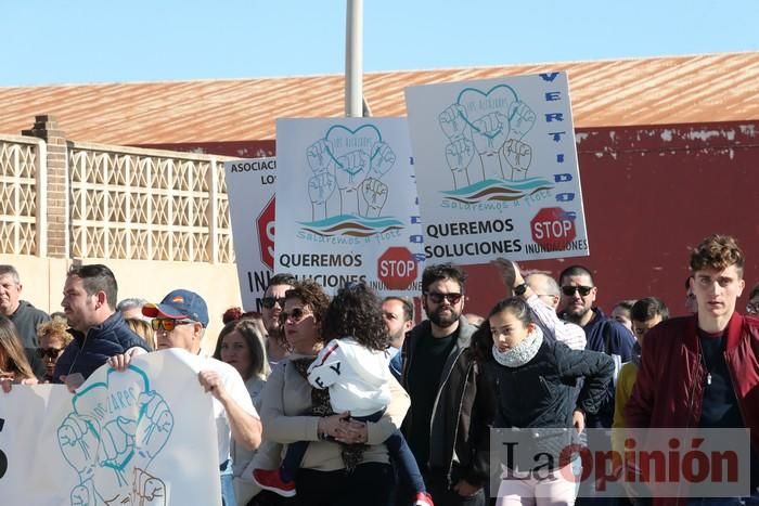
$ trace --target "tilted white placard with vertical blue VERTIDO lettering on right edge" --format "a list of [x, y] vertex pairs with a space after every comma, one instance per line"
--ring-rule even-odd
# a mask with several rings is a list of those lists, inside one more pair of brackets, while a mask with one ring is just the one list
[[406, 89], [425, 257], [589, 255], [566, 73]]

